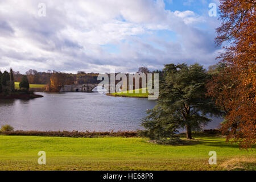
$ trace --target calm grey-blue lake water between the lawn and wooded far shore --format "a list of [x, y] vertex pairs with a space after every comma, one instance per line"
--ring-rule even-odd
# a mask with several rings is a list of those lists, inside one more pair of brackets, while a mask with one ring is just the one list
[[[34, 100], [0, 100], [0, 126], [15, 130], [118, 131], [143, 129], [141, 118], [155, 106], [147, 98], [109, 97], [92, 93], [39, 93]], [[207, 128], [215, 128], [214, 119]]]

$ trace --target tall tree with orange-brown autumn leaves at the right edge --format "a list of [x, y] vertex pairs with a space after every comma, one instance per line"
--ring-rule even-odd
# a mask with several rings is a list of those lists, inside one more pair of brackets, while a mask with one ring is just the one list
[[225, 111], [222, 132], [241, 148], [254, 147], [256, 142], [255, 4], [255, 0], [220, 0], [222, 23], [216, 43], [229, 42], [229, 46], [218, 57], [225, 66], [208, 84], [208, 94]]

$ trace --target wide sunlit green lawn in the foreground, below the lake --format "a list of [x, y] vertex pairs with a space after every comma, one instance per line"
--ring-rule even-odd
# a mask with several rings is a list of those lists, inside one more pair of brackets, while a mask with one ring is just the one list
[[[197, 139], [189, 146], [163, 146], [144, 138], [0, 135], [0, 170], [219, 170], [242, 158], [249, 160], [247, 169], [255, 169], [254, 151], [241, 151], [224, 138]], [[46, 151], [46, 165], [38, 164], [39, 151]], [[217, 152], [217, 165], [208, 164], [209, 151]]]

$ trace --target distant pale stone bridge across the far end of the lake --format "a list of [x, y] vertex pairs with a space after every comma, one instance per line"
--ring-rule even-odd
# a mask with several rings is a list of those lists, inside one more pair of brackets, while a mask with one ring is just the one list
[[92, 92], [98, 84], [64, 85], [60, 92]]

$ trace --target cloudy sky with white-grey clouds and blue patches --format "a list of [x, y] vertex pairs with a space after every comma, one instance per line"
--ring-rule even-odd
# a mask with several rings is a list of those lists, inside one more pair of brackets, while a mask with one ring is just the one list
[[[134, 73], [164, 64], [208, 68], [218, 0], [0, 0], [0, 69]], [[218, 11], [218, 9], [217, 9]]]

